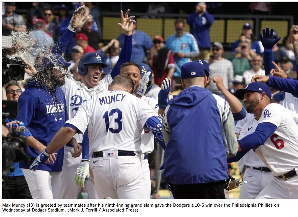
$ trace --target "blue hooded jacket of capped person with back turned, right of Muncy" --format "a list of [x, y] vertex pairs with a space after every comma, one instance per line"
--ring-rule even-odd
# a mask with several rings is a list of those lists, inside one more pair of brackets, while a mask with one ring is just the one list
[[[199, 184], [228, 178], [217, 99], [207, 89], [193, 86], [169, 101], [165, 122], [170, 140], [164, 152], [162, 177], [167, 183]], [[204, 124], [201, 124], [204, 123]]]

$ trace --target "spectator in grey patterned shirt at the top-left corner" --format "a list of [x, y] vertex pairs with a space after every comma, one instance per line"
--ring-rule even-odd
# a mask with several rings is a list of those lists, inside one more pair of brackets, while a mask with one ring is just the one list
[[2, 16], [2, 35], [11, 35], [13, 31], [26, 32], [24, 19], [15, 13], [14, 2], [5, 3], [5, 15]]

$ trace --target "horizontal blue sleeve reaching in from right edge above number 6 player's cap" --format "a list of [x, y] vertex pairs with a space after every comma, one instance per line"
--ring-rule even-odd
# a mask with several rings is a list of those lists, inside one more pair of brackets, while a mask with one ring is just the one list
[[269, 87], [276, 88], [298, 97], [298, 81], [293, 79], [269, 76]]

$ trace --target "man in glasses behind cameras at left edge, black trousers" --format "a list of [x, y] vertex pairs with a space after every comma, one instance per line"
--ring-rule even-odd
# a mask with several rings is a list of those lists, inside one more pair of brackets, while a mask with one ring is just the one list
[[[18, 98], [22, 93], [20, 86], [14, 83], [9, 83], [6, 86], [5, 91], [6, 91], [7, 100], [14, 100], [16, 102], [18, 102]], [[13, 121], [13, 119], [6, 118], [5, 120], [6, 123], [10, 121]], [[5, 188], [3, 188], [3, 191], [2, 191], [2, 198], [32, 199], [24, 174], [21, 168], [19, 167], [19, 163], [13, 162], [13, 167], [15, 168], [15, 170], [10, 174], [8, 174], [8, 179], [7, 179], [7, 182], [5, 183]]]

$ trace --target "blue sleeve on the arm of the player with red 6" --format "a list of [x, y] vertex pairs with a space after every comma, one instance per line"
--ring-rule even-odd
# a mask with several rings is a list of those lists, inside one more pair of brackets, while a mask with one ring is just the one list
[[276, 129], [277, 127], [274, 124], [268, 122], [260, 123], [252, 134], [238, 140], [238, 143], [242, 150], [253, 149], [257, 146], [263, 145]]

